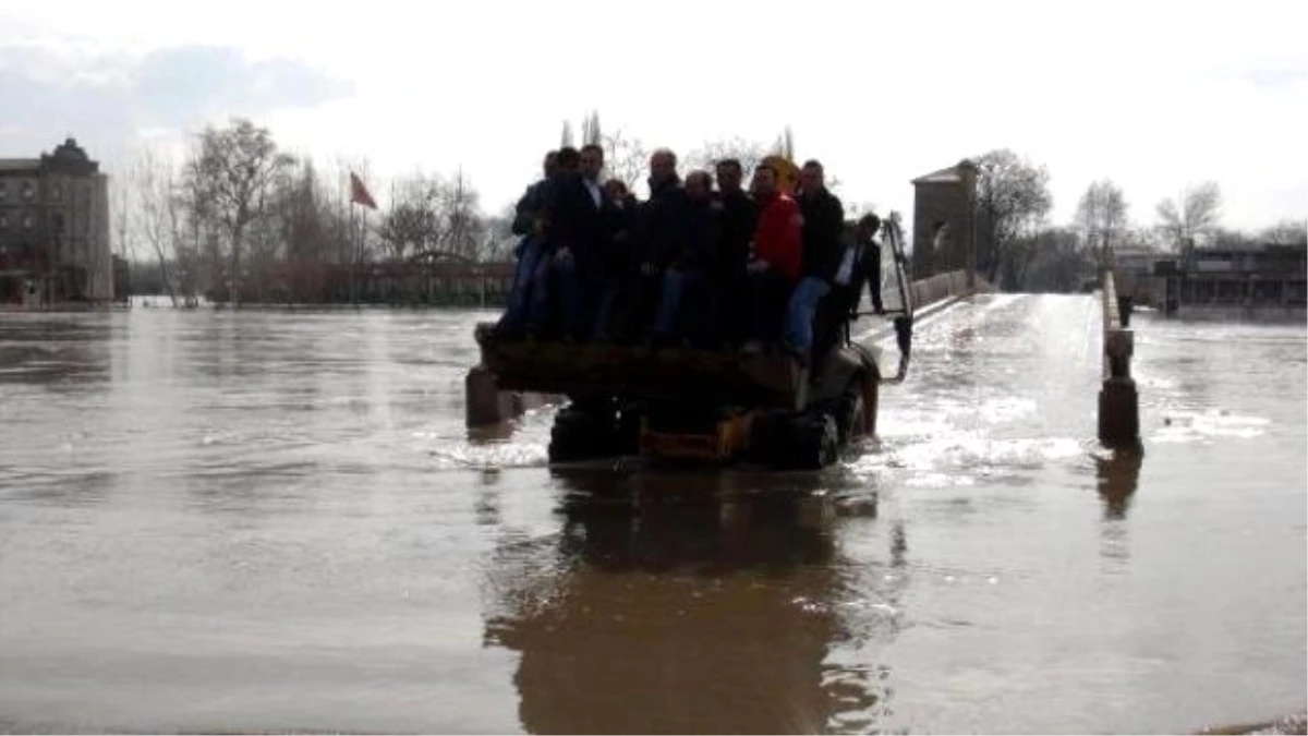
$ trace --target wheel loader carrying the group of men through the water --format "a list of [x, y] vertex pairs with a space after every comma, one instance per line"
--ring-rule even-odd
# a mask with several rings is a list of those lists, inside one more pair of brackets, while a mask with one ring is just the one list
[[[876, 431], [880, 386], [908, 372], [913, 304], [897, 215], [883, 223], [883, 244], [889, 322], [861, 340], [846, 329], [811, 369], [786, 355], [538, 342], [481, 323], [475, 371], [500, 392], [566, 397], [551, 430], [553, 464], [642, 456], [824, 468]], [[875, 344], [891, 333], [893, 369]]]

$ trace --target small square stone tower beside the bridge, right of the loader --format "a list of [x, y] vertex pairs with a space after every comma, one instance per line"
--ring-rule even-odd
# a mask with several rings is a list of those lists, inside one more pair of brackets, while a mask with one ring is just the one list
[[913, 179], [913, 278], [964, 270], [976, 279], [977, 168], [955, 166]]

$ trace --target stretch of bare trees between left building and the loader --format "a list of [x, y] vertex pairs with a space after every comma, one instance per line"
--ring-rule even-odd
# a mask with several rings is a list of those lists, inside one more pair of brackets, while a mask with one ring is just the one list
[[339, 301], [349, 297], [341, 275], [374, 263], [508, 255], [509, 220], [481, 211], [463, 172], [398, 178], [387, 210], [371, 215], [352, 206], [351, 173], [366, 178], [368, 162], [324, 170], [249, 119], [207, 127], [181, 161], [139, 153], [111, 196], [133, 291], [174, 304]]

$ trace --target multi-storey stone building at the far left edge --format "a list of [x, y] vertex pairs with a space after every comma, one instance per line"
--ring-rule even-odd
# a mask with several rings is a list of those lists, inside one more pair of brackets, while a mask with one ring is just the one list
[[0, 305], [114, 300], [109, 177], [73, 139], [0, 158]]

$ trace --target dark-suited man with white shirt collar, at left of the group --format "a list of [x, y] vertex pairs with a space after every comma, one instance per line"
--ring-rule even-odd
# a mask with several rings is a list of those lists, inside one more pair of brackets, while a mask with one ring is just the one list
[[551, 187], [545, 206], [545, 241], [565, 339], [589, 340], [604, 287], [604, 263], [612, 246], [613, 202], [599, 182], [604, 149], [587, 144], [581, 168]]

